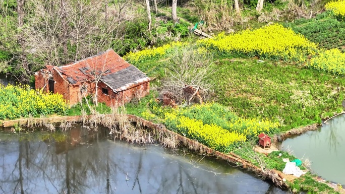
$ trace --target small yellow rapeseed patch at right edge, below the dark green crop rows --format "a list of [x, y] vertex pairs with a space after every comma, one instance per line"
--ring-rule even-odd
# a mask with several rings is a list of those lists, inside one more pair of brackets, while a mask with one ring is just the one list
[[308, 67], [345, 76], [345, 53], [336, 48], [320, 52], [310, 59]]

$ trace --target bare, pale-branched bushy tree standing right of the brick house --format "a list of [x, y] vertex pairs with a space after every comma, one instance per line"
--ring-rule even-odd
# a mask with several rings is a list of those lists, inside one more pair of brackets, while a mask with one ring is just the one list
[[[185, 100], [188, 104], [199, 91], [207, 96], [212, 92], [208, 80], [215, 72], [210, 58], [206, 52], [195, 51], [194, 46], [177, 50], [168, 63], [163, 92], [171, 92], [178, 101]], [[189, 89], [187, 95], [186, 89]]]

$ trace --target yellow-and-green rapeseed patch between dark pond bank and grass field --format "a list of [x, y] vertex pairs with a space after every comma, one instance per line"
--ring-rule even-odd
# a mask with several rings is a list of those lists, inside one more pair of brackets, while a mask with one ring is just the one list
[[280, 126], [268, 118], [238, 117], [217, 103], [166, 110], [153, 106], [153, 109], [156, 113], [164, 112], [164, 123], [170, 130], [224, 153], [260, 133], [272, 133]]

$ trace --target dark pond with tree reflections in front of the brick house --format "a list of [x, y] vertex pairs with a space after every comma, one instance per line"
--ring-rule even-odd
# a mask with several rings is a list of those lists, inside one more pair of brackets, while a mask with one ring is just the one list
[[0, 193], [285, 193], [208, 156], [106, 134], [0, 132]]

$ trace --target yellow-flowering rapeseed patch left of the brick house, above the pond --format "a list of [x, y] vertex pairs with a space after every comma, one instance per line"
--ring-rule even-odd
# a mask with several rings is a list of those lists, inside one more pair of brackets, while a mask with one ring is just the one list
[[0, 119], [62, 114], [68, 106], [61, 94], [32, 90], [28, 85], [0, 86]]

